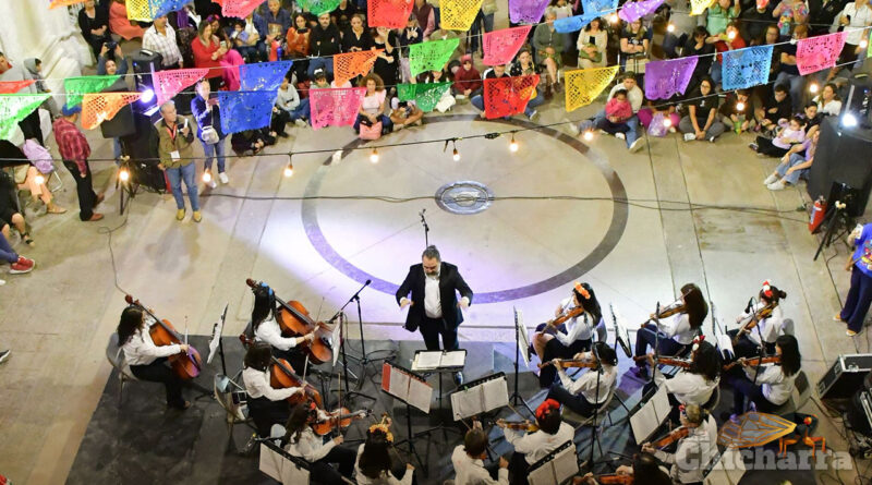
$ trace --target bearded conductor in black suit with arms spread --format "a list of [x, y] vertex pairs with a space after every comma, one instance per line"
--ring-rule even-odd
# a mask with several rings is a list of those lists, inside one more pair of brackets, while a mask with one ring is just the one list
[[[409, 300], [409, 292], [412, 299]], [[461, 298], [458, 301], [457, 293]], [[405, 329], [421, 329], [427, 350], [439, 350], [439, 336], [445, 350], [457, 350], [457, 327], [463, 322], [461, 308], [472, 303], [472, 290], [463, 281], [457, 266], [444, 263], [436, 246], [427, 246], [421, 264], [412, 265], [409, 275], [397, 290], [400, 308], [411, 305], [405, 317]], [[455, 374], [455, 383], [462, 384], [463, 375]]]

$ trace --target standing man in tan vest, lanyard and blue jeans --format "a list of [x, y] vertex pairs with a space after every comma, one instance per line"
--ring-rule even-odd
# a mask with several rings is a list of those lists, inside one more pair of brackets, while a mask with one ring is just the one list
[[[196, 41], [196, 40], [195, 40]], [[196, 171], [194, 163], [194, 132], [185, 117], [175, 112], [175, 104], [167, 101], [160, 106], [160, 121], [157, 122], [157, 148], [160, 163], [158, 168], [167, 173], [170, 181], [172, 196], [175, 198], [175, 220], [184, 219], [184, 197], [182, 197], [182, 180], [187, 187], [187, 198], [191, 199], [191, 210], [194, 211], [194, 222], [203, 220], [199, 213], [199, 197], [197, 196]], [[181, 120], [180, 120], [181, 118]]]

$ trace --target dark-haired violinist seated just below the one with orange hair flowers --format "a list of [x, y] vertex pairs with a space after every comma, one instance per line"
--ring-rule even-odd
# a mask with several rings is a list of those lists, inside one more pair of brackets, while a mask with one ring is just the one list
[[566, 374], [564, 364], [559, 360], [554, 361], [553, 365], [560, 376], [560, 384], [553, 384], [547, 397], [584, 417], [592, 416], [606, 402], [618, 379], [618, 354], [615, 349], [605, 342], [596, 342], [594, 348], [595, 352], [581, 352], [574, 355], [573, 359], [589, 361], [595, 365], [591, 372], [582, 374], [577, 380], [572, 380]]

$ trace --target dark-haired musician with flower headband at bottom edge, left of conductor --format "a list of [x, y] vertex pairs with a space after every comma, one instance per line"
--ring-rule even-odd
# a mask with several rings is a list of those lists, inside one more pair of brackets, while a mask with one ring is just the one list
[[393, 434], [390, 433], [390, 419], [385, 424], [374, 424], [366, 431], [366, 441], [358, 448], [354, 461], [354, 478], [358, 485], [411, 485], [414, 466], [405, 464], [402, 480], [393, 476], [393, 461], [390, 449]]

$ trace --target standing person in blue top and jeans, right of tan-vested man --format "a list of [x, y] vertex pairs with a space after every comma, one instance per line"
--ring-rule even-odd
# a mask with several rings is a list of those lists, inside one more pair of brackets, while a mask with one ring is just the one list
[[218, 178], [221, 183], [230, 183], [227, 177], [225, 150], [227, 150], [227, 135], [221, 131], [221, 110], [218, 107], [218, 98], [210, 98], [211, 88], [206, 78], [199, 80], [196, 84], [197, 95], [191, 100], [191, 113], [197, 120], [197, 138], [203, 145], [203, 153], [206, 159], [203, 161], [204, 180], [211, 187], [217, 186], [215, 178], [211, 175], [211, 161], [218, 158]]

